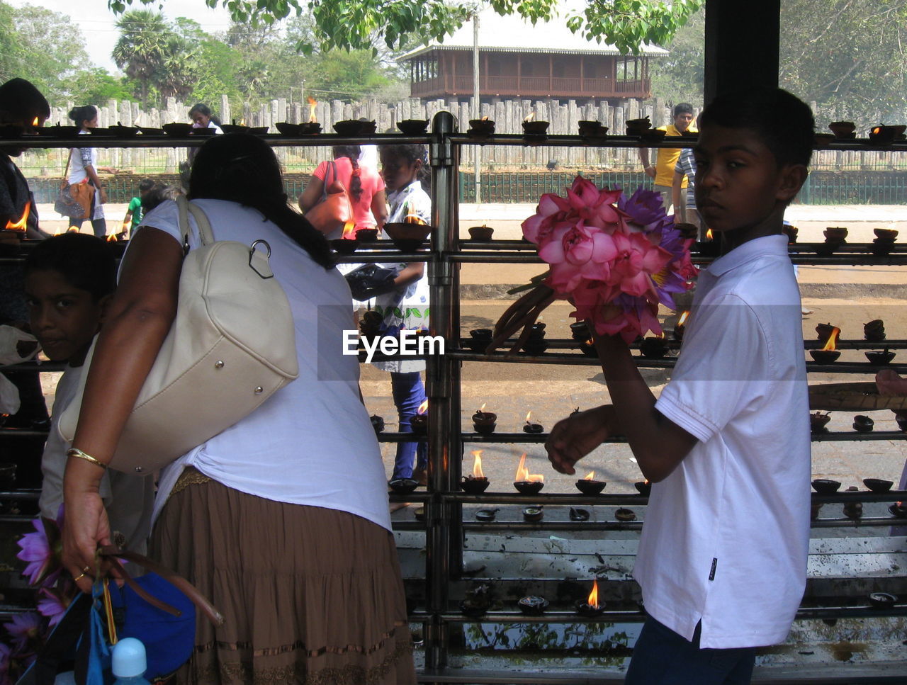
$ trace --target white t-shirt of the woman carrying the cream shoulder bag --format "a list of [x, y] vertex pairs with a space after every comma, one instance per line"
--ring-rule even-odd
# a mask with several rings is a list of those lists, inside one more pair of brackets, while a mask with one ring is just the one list
[[[236, 202], [194, 202], [217, 240], [268, 240], [271, 268], [293, 311], [299, 377], [254, 412], [161, 472], [155, 515], [184, 466], [244, 493], [290, 504], [356, 514], [390, 530], [381, 451], [359, 399], [356, 356], [342, 354], [342, 331], [353, 329], [349, 287], [323, 269], [256, 210]], [[194, 221], [190, 247], [198, 247]], [[173, 201], [149, 212], [152, 226], [180, 240]]]

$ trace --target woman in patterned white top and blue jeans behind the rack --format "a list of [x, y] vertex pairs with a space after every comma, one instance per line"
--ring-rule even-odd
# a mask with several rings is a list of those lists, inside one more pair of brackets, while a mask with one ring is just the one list
[[[390, 194], [389, 222], [421, 221], [428, 223], [432, 216], [432, 198], [419, 180], [424, 170], [425, 149], [422, 145], [382, 145], [381, 173]], [[384, 236], [388, 238], [388, 236]], [[428, 279], [422, 261], [401, 263], [394, 279], [395, 289], [375, 298], [375, 311], [383, 318], [383, 335], [396, 336], [403, 329], [428, 328]], [[421, 372], [423, 359], [400, 359], [375, 362], [375, 367], [390, 371], [391, 392], [397, 408], [401, 433], [410, 433], [410, 420], [425, 401]], [[413, 461], [415, 458], [415, 465]], [[427, 484], [428, 453], [424, 442], [397, 443], [393, 478], [414, 478]]]

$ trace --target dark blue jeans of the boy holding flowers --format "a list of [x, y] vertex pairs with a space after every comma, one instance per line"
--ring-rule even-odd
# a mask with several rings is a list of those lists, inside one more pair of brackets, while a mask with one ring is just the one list
[[649, 617], [633, 648], [625, 685], [748, 685], [756, 648], [700, 649], [701, 630], [697, 625], [690, 642]]

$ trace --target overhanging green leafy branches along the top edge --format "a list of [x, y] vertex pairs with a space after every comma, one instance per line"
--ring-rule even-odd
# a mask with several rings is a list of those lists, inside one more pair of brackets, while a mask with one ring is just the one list
[[[204, 0], [209, 6], [223, 5], [239, 24], [274, 24], [305, 11], [314, 19], [312, 40], [297, 44], [311, 54], [321, 50], [374, 49], [375, 34], [390, 48], [404, 49], [429, 39], [442, 40], [462, 26], [475, 11], [473, 0]], [[157, 0], [139, 0], [151, 5]], [[569, 15], [574, 33], [616, 45], [625, 53], [636, 52], [643, 43], [665, 44], [687, 17], [705, 0], [587, 0], [585, 9]], [[133, 0], [108, 0], [121, 14]], [[519, 14], [533, 23], [550, 20], [558, 0], [490, 0], [500, 15]]]

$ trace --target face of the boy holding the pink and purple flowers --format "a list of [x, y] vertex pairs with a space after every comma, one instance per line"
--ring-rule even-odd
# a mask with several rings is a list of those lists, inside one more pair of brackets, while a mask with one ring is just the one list
[[778, 168], [775, 155], [755, 132], [709, 124], [699, 132], [696, 158], [696, 206], [708, 228], [747, 230], [758, 237], [776, 216], [777, 229], [787, 203], [806, 178], [802, 164]]

